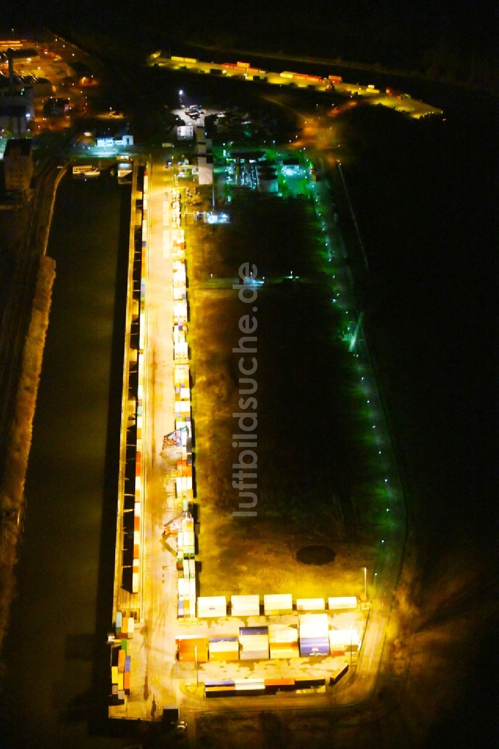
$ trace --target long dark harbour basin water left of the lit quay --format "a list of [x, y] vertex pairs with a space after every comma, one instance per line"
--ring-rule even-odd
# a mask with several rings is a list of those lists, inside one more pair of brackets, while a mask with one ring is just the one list
[[101, 555], [101, 529], [108, 533], [106, 518], [115, 517], [106, 440], [108, 415], [110, 425], [114, 419], [110, 380], [112, 394], [121, 393], [119, 377], [111, 378], [113, 326], [129, 212], [130, 189], [110, 178], [66, 176], [58, 189], [48, 248], [56, 279], [25, 485], [19, 595], [2, 654], [2, 749], [116, 745], [89, 734], [106, 709], [98, 672], [106, 664], [112, 587], [100, 585], [100, 575], [112, 580], [114, 540]]

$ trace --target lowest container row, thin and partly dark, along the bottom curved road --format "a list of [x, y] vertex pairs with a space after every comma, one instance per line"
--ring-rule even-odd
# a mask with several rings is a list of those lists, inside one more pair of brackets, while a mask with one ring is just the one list
[[[335, 685], [339, 679], [348, 673], [348, 664], [334, 671], [329, 677], [330, 685]], [[321, 690], [326, 685], [324, 676], [312, 679], [310, 677], [292, 677], [281, 679], [223, 679], [205, 682], [205, 697], [251, 697], [258, 694], [276, 694], [277, 692]]]

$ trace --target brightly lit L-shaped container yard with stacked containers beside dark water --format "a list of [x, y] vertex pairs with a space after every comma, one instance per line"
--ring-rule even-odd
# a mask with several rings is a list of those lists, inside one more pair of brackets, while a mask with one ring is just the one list
[[[319, 201], [314, 166], [305, 163]], [[203, 498], [196, 496], [191, 405], [194, 229], [186, 222], [187, 195], [196, 187], [178, 183], [164, 157], [133, 168], [109, 716], [148, 719], [151, 700], [156, 710], [185, 715], [199, 700], [231, 694], [305, 691], [329, 699], [337, 683], [351, 685], [334, 696], [348, 703], [375, 683], [402, 526], [393, 526], [393, 552], [375, 601], [366, 595], [366, 569], [364, 585], [351, 595], [331, 595], [327, 578], [315, 598], [267, 589], [203, 595], [196, 558]], [[327, 211], [322, 220], [329, 221]], [[247, 264], [239, 272], [232, 282], [251, 288]], [[348, 341], [354, 357], [363, 355], [360, 341]], [[375, 398], [372, 392], [381, 421]], [[394, 516], [395, 495], [388, 500]]]

